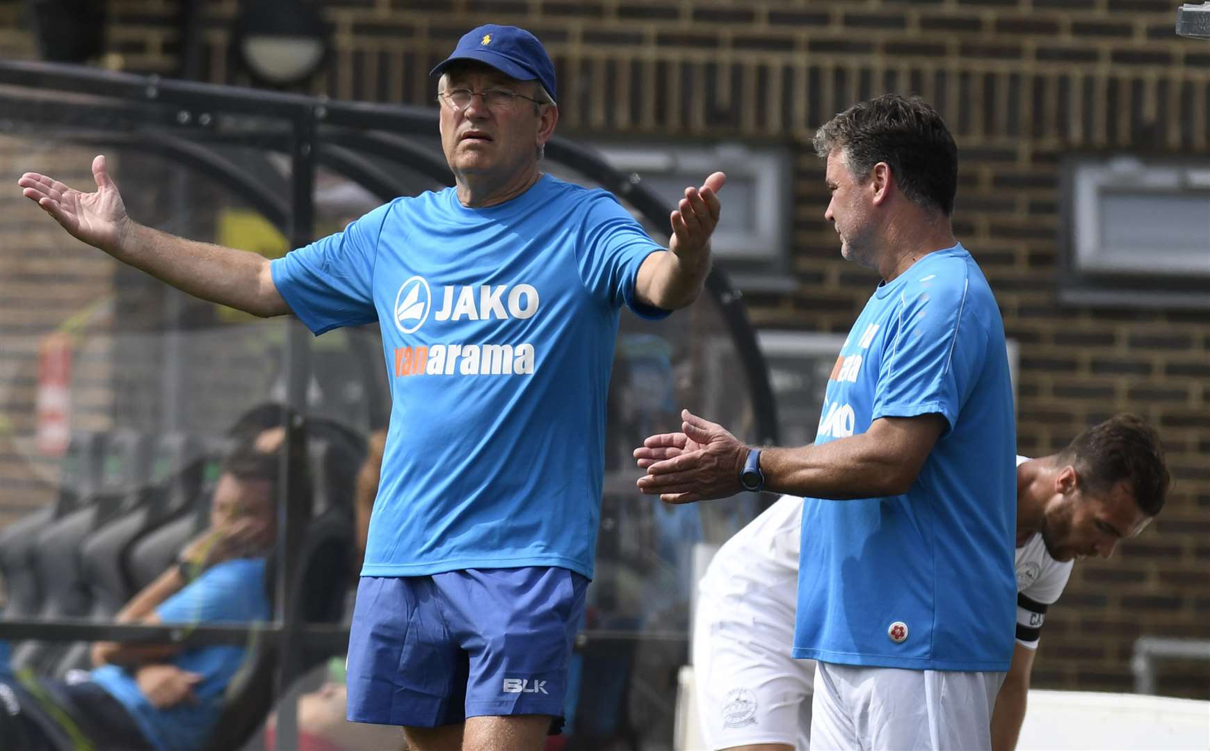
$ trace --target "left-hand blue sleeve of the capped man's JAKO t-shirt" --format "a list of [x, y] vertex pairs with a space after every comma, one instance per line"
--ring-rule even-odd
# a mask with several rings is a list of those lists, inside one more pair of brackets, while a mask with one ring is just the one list
[[317, 336], [339, 327], [378, 320], [374, 261], [382, 225], [394, 206], [380, 206], [342, 232], [272, 261], [270, 271], [277, 291]]

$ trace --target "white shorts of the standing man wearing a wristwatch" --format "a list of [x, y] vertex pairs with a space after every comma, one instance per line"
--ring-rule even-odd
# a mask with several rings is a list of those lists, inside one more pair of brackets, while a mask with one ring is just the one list
[[1003, 672], [901, 670], [819, 663], [816, 751], [983, 751]]

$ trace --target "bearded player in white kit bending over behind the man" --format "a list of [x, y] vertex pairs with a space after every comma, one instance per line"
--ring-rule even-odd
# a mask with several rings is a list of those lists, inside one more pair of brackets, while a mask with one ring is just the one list
[[[993, 751], [1016, 745], [1038, 635], [1073, 559], [1110, 558], [1159, 513], [1169, 484], [1159, 438], [1133, 415], [1016, 462], [1016, 645], [992, 714]], [[809, 747], [816, 664], [790, 655], [801, 522], [802, 498], [783, 496], [719, 549], [698, 585], [695, 694], [711, 750]]]

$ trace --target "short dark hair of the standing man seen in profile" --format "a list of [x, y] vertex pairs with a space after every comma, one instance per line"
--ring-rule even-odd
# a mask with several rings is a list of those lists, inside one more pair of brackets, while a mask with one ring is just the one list
[[958, 146], [941, 116], [920, 97], [883, 94], [859, 102], [819, 128], [813, 143], [824, 158], [840, 149], [858, 181], [886, 162], [912, 203], [946, 216], [953, 213]]

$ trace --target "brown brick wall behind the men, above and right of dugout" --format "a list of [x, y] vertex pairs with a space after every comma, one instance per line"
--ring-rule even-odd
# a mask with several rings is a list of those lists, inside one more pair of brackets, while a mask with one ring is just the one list
[[[962, 149], [955, 226], [1021, 342], [1020, 450], [1062, 446], [1131, 410], [1158, 424], [1176, 487], [1163, 516], [1072, 577], [1036, 684], [1128, 689], [1141, 634], [1210, 637], [1210, 313], [1056, 304], [1059, 158], [1068, 151], [1210, 155], [1210, 42], [1172, 34], [1175, 0], [344, 0], [328, 73], [340, 98], [425, 104], [427, 70], [471, 27], [517, 23], [555, 58], [560, 133], [776, 140], [795, 156], [799, 288], [749, 294], [764, 327], [847, 330], [872, 278], [839, 259], [809, 137], [831, 112], [917, 92]], [[131, 70], [177, 69], [175, 5], [110, 2]], [[235, 0], [201, 21], [208, 80], [230, 64]], [[0, 19], [5, 18], [0, 15]], [[0, 35], [0, 44], [8, 36]], [[1160, 666], [1160, 691], [1210, 698], [1205, 664]]]

